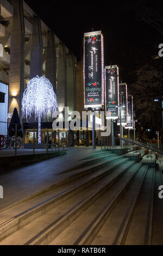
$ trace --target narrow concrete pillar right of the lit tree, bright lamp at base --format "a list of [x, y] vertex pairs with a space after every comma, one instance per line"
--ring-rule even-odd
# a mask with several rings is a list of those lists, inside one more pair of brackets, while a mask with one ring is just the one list
[[59, 58], [57, 62], [57, 102], [60, 112], [64, 111], [66, 100], [67, 64], [64, 44], [59, 44]]

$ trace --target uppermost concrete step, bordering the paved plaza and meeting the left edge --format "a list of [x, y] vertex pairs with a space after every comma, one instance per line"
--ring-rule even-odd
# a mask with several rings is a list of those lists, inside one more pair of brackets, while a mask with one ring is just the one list
[[40, 194], [40, 196], [31, 198], [27, 202], [22, 202], [6, 211], [3, 211], [0, 213], [0, 240], [24, 227], [35, 220], [36, 217], [40, 217], [45, 214], [45, 212], [48, 212], [56, 205], [72, 197], [73, 194], [82, 191], [87, 186], [90, 186], [99, 179], [102, 179], [105, 175], [108, 175], [118, 166], [120, 167], [121, 164], [127, 162], [128, 159], [125, 158], [119, 158], [117, 161], [115, 161], [115, 159], [110, 160], [109, 165], [105, 168], [103, 167], [102, 170], [96, 169], [91, 173], [88, 172], [84, 177], [81, 176], [80, 180], [75, 182], [75, 184], [74, 180], [72, 180], [71, 182], [68, 182], [66, 187], [65, 185], [62, 185], [58, 189], [44, 192]]

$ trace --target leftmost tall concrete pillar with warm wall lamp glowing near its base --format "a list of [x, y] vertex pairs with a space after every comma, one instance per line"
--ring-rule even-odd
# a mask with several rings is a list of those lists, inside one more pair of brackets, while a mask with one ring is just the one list
[[22, 117], [22, 97], [24, 92], [24, 15], [22, 0], [12, 0], [14, 16], [12, 19], [10, 42], [10, 78], [9, 78], [9, 112], [17, 108]]

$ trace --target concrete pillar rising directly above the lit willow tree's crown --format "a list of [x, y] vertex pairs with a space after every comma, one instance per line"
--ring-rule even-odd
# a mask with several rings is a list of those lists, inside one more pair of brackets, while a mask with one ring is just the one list
[[30, 47], [30, 79], [42, 76], [42, 34], [41, 21], [36, 15], [33, 16], [33, 33]]

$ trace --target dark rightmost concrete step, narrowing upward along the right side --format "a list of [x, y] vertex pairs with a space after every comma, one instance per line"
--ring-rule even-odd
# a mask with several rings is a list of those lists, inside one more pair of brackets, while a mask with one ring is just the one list
[[148, 168], [125, 245], [151, 245], [154, 197], [154, 168]]

